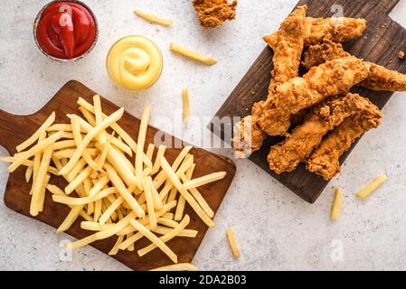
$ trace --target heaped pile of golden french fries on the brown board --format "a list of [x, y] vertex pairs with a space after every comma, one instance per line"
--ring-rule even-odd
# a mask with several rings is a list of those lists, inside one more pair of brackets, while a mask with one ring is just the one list
[[[27, 167], [26, 182], [33, 181], [30, 213], [37, 216], [46, 210], [45, 192], [50, 191], [53, 201], [71, 208], [58, 232], [71, 228], [79, 217], [84, 219], [80, 227], [92, 232], [68, 244], [68, 248], [116, 236], [117, 242], [109, 252], [116, 255], [119, 250], [134, 251], [134, 244], [147, 238], [151, 244], [139, 249], [138, 256], [158, 247], [177, 263], [175, 252], [165, 243], [198, 234], [187, 228], [190, 217], [184, 214], [185, 204], [207, 226], [214, 226], [214, 213], [197, 188], [222, 180], [226, 172], [193, 179], [196, 163], [192, 146], [184, 147], [175, 162], [169, 164], [164, 145], [157, 149], [155, 144], [146, 145], [150, 107], [146, 107], [141, 119], [136, 143], [118, 125], [123, 108], [106, 116], [99, 96], [93, 98], [93, 104], [79, 98], [78, 105], [82, 116], [68, 115], [70, 124], [54, 124], [52, 113], [28, 140], [17, 146], [17, 154], [2, 158], [11, 163], [9, 172], [22, 165]], [[69, 184], [63, 190], [51, 184], [52, 174], [63, 176]]]

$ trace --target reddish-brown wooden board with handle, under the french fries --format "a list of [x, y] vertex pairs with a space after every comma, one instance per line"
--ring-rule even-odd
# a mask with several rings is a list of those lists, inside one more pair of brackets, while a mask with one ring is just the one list
[[[14, 116], [0, 110], [0, 144], [5, 146], [7, 151], [13, 155], [15, 153], [15, 146], [32, 135], [38, 127], [42, 125], [45, 119], [51, 115], [52, 111], [56, 112], [57, 123], [69, 123], [66, 114], [75, 113], [80, 115], [80, 111], [76, 104], [77, 99], [79, 97], [85, 98], [92, 103], [92, 97], [95, 94], [94, 91], [88, 89], [80, 82], [71, 80], [62, 87], [62, 89], [45, 107], [42, 107], [40, 111], [31, 116]], [[119, 108], [104, 98], [102, 98], [101, 105], [103, 112], [106, 114], [111, 114]], [[137, 139], [139, 122], [140, 121], [137, 117], [133, 117], [126, 112], [118, 124], [122, 126], [131, 137]], [[148, 127], [146, 144], [153, 143], [154, 135], [156, 135], [157, 131], [158, 130], [155, 127]], [[169, 137], [172, 136], [169, 135]], [[174, 137], [172, 137], [172, 140], [173, 144], [175, 144]], [[168, 148], [165, 157], [170, 163], [172, 163], [180, 150], [181, 149]], [[217, 211], [235, 175], [235, 165], [230, 159], [209, 153], [201, 148], [194, 148], [192, 154], [194, 154], [194, 162], [197, 164], [194, 172], [196, 177], [211, 172], [227, 172], [227, 177], [224, 180], [206, 185], [200, 190], [204, 199], [207, 200], [212, 207], [212, 210]], [[5, 205], [11, 210], [15, 210], [16, 212], [32, 218], [29, 214], [31, 200], [29, 191], [31, 184], [27, 184], [24, 181], [24, 172], [24, 168], [20, 167], [16, 172], [10, 174], [5, 188]], [[54, 176], [52, 176], [51, 183], [57, 184], [61, 188], [64, 188], [67, 185], [67, 182], [62, 180], [62, 178], [56, 178]], [[53, 202], [50, 193], [48, 193], [43, 212], [34, 219], [38, 219], [54, 228], [58, 228], [68, 213], [68, 207]], [[199, 248], [207, 231], [207, 226], [197, 217], [188, 205], [186, 205], [185, 213], [189, 214], [191, 218], [188, 228], [196, 229], [199, 233], [196, 238], [175, 238], [168, 242], [169, 247], [171, 247], [175, 254], [177, 254], [179, 263], [192, 262], [194, 254]], [[80, 220], [81, 219], [78, 219], [72, 228], [67, 231], [68, 234], [75, 238], [84, 238], [90, 235], [89, 231], [80, 228]], [[95, 242], [91, 246], [108, 254], [115, 242], [116, 237], [112, 237]], [[114, 258], [134, 270], [149, 270], [158, 266], [172, 264], [171, 260], [169, 260], [169, 258], [159, 249], [139, 258], [137, 255], [137, 249], [146, 247], [148, 243], [149, 242], [146, 238], [144, 238], [136, 244], [136, 250], [134, 252], [120, 251], [117, 256], [114, 256]], [[55, 244], [55, 246], [57, 246], [57, 244]]]

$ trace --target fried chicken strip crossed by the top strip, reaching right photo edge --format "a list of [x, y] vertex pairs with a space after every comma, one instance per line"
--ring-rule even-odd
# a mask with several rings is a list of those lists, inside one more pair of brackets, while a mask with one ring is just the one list
[[[302, 65], [310, 69], [326, 61], [332, 61], [351, 55], [343, 45], [331, 41], [310, 46], [304, 53]], [[388, 70], [381, 65], [368, 62], [371, 70], [368, 77], [360, 84], [366, 89], [376, 91], [406, 91], [406, 75], [398, 71]]]

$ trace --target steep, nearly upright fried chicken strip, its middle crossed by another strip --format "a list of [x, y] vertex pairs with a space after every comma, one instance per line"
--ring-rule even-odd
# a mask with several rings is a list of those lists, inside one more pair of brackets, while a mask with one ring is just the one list
[[[274, 69], [272, 70], [272, 79], [269, 84], [269, 98], [272, 98], [279, 84], [298, 75], [304, 47], [303, 33], [306, 12], [307, 5], [297, 7], [281, 25], [278, 47], [273, 56]], [[262, 115], [264, 103], [264, 101], [255, 103], [252, 107], [251, 116], [244, 117], [240, 123], [234, 126], [232, 145], [237, 156], [240, 158], [258, 151], [267, 137], [267, 134], [259, 126], [259, 119]]]

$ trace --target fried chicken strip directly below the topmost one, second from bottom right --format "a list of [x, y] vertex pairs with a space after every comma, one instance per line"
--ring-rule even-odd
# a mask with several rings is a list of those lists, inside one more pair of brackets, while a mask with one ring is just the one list
[[374, 105], [367, 98], [352, 93], [327, 99], [317, 105], [305, 123], [297, 126], [292, 135], [271, 147], [268, 155], [270, 170], [277, 173], [292, 172], [299, 163], [307, 160], [322, 142], [323, 136], [335, 126], [339, 126], [347, 117], [370, 111], [372, 107]]

